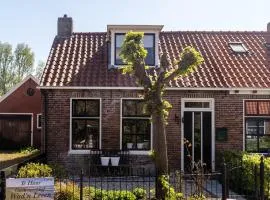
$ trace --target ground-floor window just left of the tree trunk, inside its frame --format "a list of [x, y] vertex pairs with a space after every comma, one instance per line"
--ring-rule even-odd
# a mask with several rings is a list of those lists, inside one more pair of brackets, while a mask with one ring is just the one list
[[150, 150], [151, 116], [145, 111], [143, 100], [122, 101], [122, 148]]

